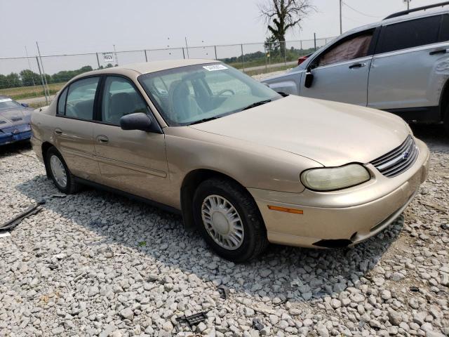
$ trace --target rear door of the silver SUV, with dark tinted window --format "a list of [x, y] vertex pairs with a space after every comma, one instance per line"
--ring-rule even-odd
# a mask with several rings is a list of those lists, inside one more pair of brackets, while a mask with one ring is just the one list
[[[448, 72], [448, 15], [382, 26], [368, 84], [368, 106], [436, 106]], [[407, 118], [407, 114], [403, 115]]]

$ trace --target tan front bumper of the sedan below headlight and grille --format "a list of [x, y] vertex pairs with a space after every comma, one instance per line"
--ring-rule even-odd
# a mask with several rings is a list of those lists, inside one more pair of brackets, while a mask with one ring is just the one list
[[[362, 185], [334, 192], [300, 194], [248, 189], [262, 213], [269, 242], [289, 246], [332, 247], [357, 244], [392, 223], [417, 194], [429, 171], [429, 150], [420, 151], [415, 164], [387, 178], [371, 164], [373, 178]], [[268, 206], [300, 209], [302, 214], [270, 210]]]

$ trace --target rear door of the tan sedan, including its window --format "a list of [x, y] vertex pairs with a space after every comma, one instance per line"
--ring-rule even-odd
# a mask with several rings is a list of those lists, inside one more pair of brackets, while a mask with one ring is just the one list
[[75, 176], [98, 178], [93, 147], [93, 115], [100, 77], [74, 81], [59, 95], [53, 136], [56, 148]]

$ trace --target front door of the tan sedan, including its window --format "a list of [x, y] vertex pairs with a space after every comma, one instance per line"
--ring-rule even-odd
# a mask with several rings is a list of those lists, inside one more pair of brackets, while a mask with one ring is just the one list
[[159, 199], [166, 187], [168, 166], [163, 133], [125, 131], [120, 118], [149, 112], [131, 81], [108, 76], [104, 82], [100, 123], [94, 126], [94, 143], [102, 183], [116, 189]]

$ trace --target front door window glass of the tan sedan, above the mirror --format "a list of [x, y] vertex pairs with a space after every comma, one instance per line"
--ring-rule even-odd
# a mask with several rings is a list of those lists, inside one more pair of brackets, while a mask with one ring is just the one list
[[120, 118], [125, 114], [147, 112], [147, 103], [130, 81], [123, 77], [109, 76], [105, 81], [101, 111], [102, 121], [120, 124]]

